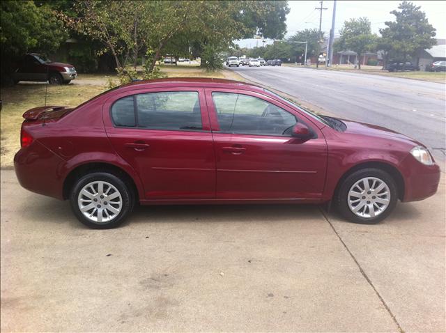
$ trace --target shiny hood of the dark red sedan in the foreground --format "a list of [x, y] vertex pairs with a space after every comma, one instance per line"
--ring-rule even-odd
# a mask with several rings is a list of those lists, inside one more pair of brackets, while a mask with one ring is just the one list
[[420, 144], [420, 142], [407, 137], [404, 134], [399, 132], [395, 132], [393, 130], [389, 130], [385, 127], [380, 127], [377, 125], [371, 125], [367, 123], [360, 123], [357, 121], [348, 121], [344, 119], [340, 119], [346, 126], [346, 130], [344, 131], [347, 134], [358, 134], [366, 137], [378, 137], [385, 139], [394, 139], [401, 143], [410, 144], [411, 146], [424, 146]]

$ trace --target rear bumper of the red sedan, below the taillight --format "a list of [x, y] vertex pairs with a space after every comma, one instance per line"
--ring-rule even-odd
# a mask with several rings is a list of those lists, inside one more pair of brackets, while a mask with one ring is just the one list
[[14, 156], [15, 175], [20, 185], [31, 192], [63, 200], [63, 175], [66, 162], [43, 144], [34, 141]]

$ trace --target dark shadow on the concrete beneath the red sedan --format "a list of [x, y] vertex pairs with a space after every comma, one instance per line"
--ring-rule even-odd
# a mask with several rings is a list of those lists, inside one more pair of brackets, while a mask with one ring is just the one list
[[[20, 207], [21, 218], [36, 222], [49, 222], [86, 229], [73, 215], [69, 201], [59, 201], [44, 196], [36, 200], [36, 205], [23, 203]], [[132, 215], [122, 225], [134, 223], [196, 223], [196, 222], [297, 222], [329, 220], [348, 223], [337, 210], [327, 212], [322, 205], [183, 205], [183, 206], [136, 206]], [[399, 203], [395, 211], [380, 222], [381, 224], [399, 223], [401, 220], [416, 220], [421, 216], [417, 208], [410, 203]]]

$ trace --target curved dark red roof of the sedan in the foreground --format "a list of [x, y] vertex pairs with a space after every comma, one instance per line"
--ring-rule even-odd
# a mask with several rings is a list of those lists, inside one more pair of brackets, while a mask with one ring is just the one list
[[229, 79], [216, 79], [208, 77], [169, 77], [163, 79], [151, 79], [151, 80], [139, 80], [124, 84], [115, 91], [151, 88], [151, 87], [173, 87], [173, 86], [204, 86], [204, 87], [217, 87], [217, 88], [238, 88], [246, 89], [250, 91], [257, 91], [265, 93], [265, 89], [261, 86], [254, 84], [247, 84], [246, 82], [240, 82]]

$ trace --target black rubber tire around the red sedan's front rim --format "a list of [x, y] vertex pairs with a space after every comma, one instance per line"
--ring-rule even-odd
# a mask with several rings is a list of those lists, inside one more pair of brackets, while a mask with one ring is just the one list
[[[348, 192], [358, 180], [366, 177], [378, 178], [379, 180], [382, 180], [390, 189], [390, 203], [387, 208], [383, 212], [380, 212], [380, 214], [376, 217], [359, 217], [355, 215], [355, 213], [348, 207]], [[389, 216], [390, 213], [392, 213], [392, 210], [394, 210], [395, 206], [397, 205], [397, 201], [398, 189], [395, 180], [389, 173], [374, 168], [361, 169], [351, 173], [351, 175], [347, 176], [343, 183], [341, 183], [334, 198], [334, 202], [336, 203], [339, 212], [341, 212], [341, 215], [348, 219], [348, 221], [359, 224], [376, 224], [382, 221]]]

